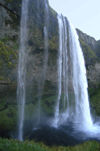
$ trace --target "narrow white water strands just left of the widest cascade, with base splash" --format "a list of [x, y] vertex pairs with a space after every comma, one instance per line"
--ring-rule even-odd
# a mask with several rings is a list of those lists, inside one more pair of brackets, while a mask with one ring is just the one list
[[[68, 48], [67, 48], [67, 22], [65, 17], [58, 15], [59, 25], [59, 53], [58, 53], [58, 97], [55, 109], [53, 126], [58, 127], [69, 117], [69, 92], [68, 92]], [[63, 94], [63, 113], [60, 113], [60, 101]], [[66, 110], [67, 105], [67, 110]]]

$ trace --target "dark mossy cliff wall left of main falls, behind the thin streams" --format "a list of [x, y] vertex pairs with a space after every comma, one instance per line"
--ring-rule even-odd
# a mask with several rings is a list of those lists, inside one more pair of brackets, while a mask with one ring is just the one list
[[[41, 79], [44, 57], [44, 3], [43, 0], [30, 0], [29, 39], [27, 60], [27, 110], [33, 111], [38, 102], [38, 85]], [[39, 2], [39, 3], [38, 3]], [[17, 126], [16, 81], [19, 50], [21, 1], [0, 0], [0, 136], [8, 137]], [[38, 5], [39, 4], [39, 5]], [[58, 25], [56, 13], [49, 8], [49, 60], [44, 86], [44, 111], [51, 114], [48, 104], [53, 106], [57, 79], [57, 40]], [[8, 53], [9, 52], [9, 53]], [[42, 80], [42, 79], [41, 79]], [[10, 84], [9, 84], [10, 83]], [[8, 91], [9, 90], [9, 91]], [[52, 96], [49, 98], [49, 95]], [[51, 102], [50, 102], [51, 101]], [[52, 109], [53, 110], [53, 107]], [[36, 112], [36, 110], [34, 110]], [[30, 114], [27, 119], [31, 120]]]

